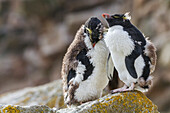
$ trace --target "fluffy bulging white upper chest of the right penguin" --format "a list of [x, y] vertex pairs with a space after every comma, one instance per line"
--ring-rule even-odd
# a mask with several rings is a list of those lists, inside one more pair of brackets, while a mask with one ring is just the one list
[[124, 56], [128, 56], [134, 50], [131, 37], [119, 25], [109, 28], [105, 42], [110, 51], [122, 53]]

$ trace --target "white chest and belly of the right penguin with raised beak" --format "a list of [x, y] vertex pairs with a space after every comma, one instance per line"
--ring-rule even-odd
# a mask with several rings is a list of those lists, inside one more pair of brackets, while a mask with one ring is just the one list
[[131, 37], [123, 30], [122, 26], [113, 26], [109, 28], [106, 34], [105, 42], [111, 52], [111, 57], [119, 73], [120, 80], [129, 85], [129, 81], [134, 79], [127, 71], [125, 57], [134, 50], [134, 43]]

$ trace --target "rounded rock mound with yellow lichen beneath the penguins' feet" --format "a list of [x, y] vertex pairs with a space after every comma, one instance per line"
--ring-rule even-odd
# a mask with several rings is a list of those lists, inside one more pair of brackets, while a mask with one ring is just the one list
[[67, 108], [58, 113], [158, 113], [158, 108], [139, 91], [108, 94], [98, 100]]

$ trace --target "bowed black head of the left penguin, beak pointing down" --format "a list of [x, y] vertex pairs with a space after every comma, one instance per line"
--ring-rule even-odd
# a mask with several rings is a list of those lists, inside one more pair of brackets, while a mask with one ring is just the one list
[[85, 22], [85, 31], [93, 45], [103, 38], [103, 24], [97, 17], [91, 17]]

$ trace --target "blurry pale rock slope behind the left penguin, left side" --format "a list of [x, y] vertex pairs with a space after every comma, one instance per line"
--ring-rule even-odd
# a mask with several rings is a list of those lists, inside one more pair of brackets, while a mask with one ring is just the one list
[[62, 81], [56, 80], [42, 86], [2, 94], [0, 95], [0, 104], [63, 107]]

